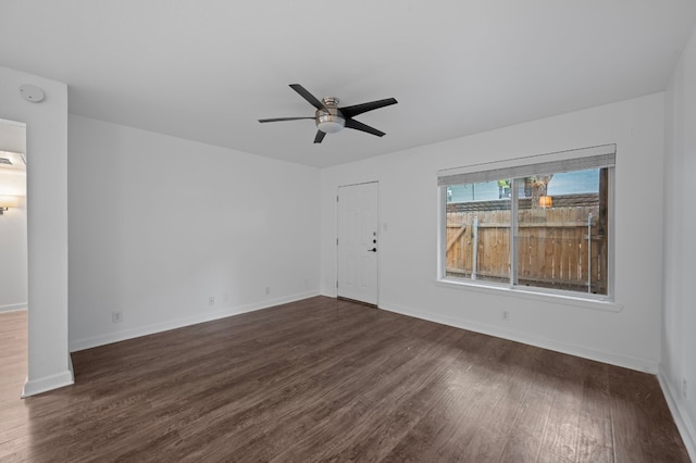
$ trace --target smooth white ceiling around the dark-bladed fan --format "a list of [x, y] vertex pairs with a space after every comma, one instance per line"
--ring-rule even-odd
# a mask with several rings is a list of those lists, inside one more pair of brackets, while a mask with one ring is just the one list
[[[0, 65], [64, 82], [70, 111], [314, 166], [664, 89], [694, 0], [2, 0]], [[312, 143], [299, 83], [394, 97]], [[50, 95], [47, 96], [50, 98]]]

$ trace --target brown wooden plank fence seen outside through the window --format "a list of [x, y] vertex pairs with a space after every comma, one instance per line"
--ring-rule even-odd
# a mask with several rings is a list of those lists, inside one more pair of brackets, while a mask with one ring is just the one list
[[[607, 293], [606, 236], [598, 233], [598, 205], [521, 210], [518, 284]], [[509, 210], [448, 212], [447, 275], [509, 281]]]

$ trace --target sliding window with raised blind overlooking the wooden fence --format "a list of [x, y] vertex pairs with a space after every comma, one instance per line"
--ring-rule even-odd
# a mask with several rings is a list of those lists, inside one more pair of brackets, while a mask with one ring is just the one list
[[440, 171], [440, 279], [607, 299], [614, 160], [608, 145]]

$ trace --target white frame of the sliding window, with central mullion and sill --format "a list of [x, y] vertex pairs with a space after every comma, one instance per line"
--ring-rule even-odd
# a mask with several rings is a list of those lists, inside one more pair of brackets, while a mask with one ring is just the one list
[[[499, 162], [490, 162], [483, 164], [474, 164], [462, 167], [440, 170], [437, 172], [437, 201], [438, 201], [438, 214], [437, 214], [437, 284], [438, 286], [449, 288], [468, 288], [477, 289], [484, 292], [505, 293], [510, 296], [522, 296], [524, 298], [532, 298], [538, 300], [549, 300], [551, 298], [556, 302], [570, 303], [572, 305], [584, 305], [591, 309], [608, 310], [618, 312], [622, 310], [622, 305], [614, 302], [614, 260], [616, 260], [616, 247], [614, 247], [614, 209], [616, 209], [616, 145], [602, 145], [598, 147], [581, 148], [575, 150], [559, 151], [548, 154], [537, 154], [525, 158], [511, 159]], [[534, 172], [533, 174], [549, 174], [558, 172], [572, 172], [583, 168], [583, 160], [587, 160], [597, 154], [608, 154], [611, 158], [611, 163], [605, 165], [608, 167], [608, 236], [607, 236], [607, 295], [596, 295], [591, 292], [581, 292], [573, 290], [563, 290], [555, 288], [544, 288], [536, 286], [520, 286], [518, 285], [518, 240], [517, 229], [519, 225], [519, 188], [514, 185], [521, 178], [520, 175], [510, 177], [513, 180], [511, 185], [511, 198], [510, 198], [510, 277], [506, 283], [478, 280], [471, 278], [457, 278], [447, 276], [446, 264], [447, 256], [446, 242], [447, 242], [447, 187], [450, 185], [460, 185], [455, 183], [451, 178], [458, 178], [457, 176], [478, 175], [476, 178], [485, 178], [483, 182], [495, 179], [496, 172], [509, 172], [517, 171], [529, 173], [527, 166], [536, 166], [538, 168], [542, 164], [547, 165], [568, 165], [564, 163], [573, 163], [574, 160], [580, 160], [577, 168], [571, 168], [566, 171], [555, 172]], [[596, 168], [598, 166], [589, 167]], [[504, 170], [504, 171], [501, 171]], [[449, 179], [444, 182], [443, 179]], [[477, 180], [482, 182], [482, 180]], [[474, 183], [474, 182], [468, 182]]]

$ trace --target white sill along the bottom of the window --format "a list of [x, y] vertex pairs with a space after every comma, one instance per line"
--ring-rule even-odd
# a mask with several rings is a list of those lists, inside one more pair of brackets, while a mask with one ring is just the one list
[[602, 312], [618, 313], [623, 310], [623, 304], [618, 304], [609, 300], [599, 299], [599, 297], [597, 299], [582, 298], [582, 297], [575, 297], [575, 296], [560, 295], [556, 292], [535, 291], [535, 290], [531, 290], [522, 287], [510, 287], [505, 285], [497, 286], [497, 285], [490, 285], [490, 284], [483, 285], [480, 283], [460, 281], [460, 280], [453, 280], [453, 279], [447, 279], [447, 278], [438, 279], [436, 281], [436, 285], [444, 288], [474, 290], [474, 291], [485, 292], [489, 295], [507, 296], [507, 297], [512, 297], [518, 299], [527, 299], [527, 300], [548, 302], [548, 303], [558, 303], [558, 304], [571, 305], [575, 308], [598, 310]]

